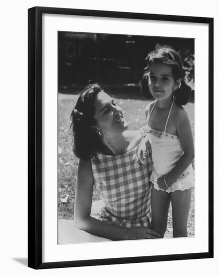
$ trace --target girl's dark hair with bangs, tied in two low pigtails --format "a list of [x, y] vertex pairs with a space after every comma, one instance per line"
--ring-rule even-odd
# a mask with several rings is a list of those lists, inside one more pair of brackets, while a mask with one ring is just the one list
[[181, 86], [173, 92], [173, 96], [179, 105], [184, 105], [189, 100], [191, 88], [185, 84], [183, 79], [182, 61], [179, 54], [167, 47], [162, 47], [150, 52], [146, 58], [146, 68], [141, 79], [141, 92], [147, 99], [153, 98], [148, 87], [148, 74], [150, 65], [153, 63], [167, 64], [172, 68], [173, 78], [176, 81], [181, 78]]

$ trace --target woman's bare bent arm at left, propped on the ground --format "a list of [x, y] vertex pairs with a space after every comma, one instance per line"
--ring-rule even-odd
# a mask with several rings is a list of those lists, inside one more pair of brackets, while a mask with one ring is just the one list
[[147, 227], [120, 227], [91, 217], [93, 183], [91, 161], [80, 160], [74, 211], [74, 220], [79, 229], [111, 240], [147, 239], [159, 236], [157, 232]]

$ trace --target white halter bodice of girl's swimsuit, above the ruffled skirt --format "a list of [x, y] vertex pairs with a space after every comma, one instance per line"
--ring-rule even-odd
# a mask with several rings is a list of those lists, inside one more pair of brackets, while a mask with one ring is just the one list
[[150, 116], [156, 105], [156, 101], [151, 108], [147, 119], [149, 128], [149, 141], [152, 148], [153, 164], [156, 172], [159, 175], [165, 175], [170, 172], [183, 154], [183, 150], [179, 142], [179, 137], [177, 135], [166, 132], [166, 127], [173, 103], [174, 99], [172, 101], [172, 105], [166, 119], [164, 131], [158, 131], [149, 126]]

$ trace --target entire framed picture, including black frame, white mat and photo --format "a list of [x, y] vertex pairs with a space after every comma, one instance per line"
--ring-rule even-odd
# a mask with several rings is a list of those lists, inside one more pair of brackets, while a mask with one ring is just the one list
[[211, 258], [212, 19], [29, 10], [29, 266]]

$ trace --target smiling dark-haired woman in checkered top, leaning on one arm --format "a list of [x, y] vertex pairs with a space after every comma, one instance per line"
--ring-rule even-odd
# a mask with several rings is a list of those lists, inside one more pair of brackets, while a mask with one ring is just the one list
[[[74, 153], [80, 158], [74, 221], [77, 228], [110, 240], [157, 238], [150, 229], [150, 148], [145, 164], [136, 151], [140, 131], [127, 130], [121, 108], [99, 84], [88, 85], [71, 114]], [[104, 202], [99, 219], [91, 216], [95, 186]]]

